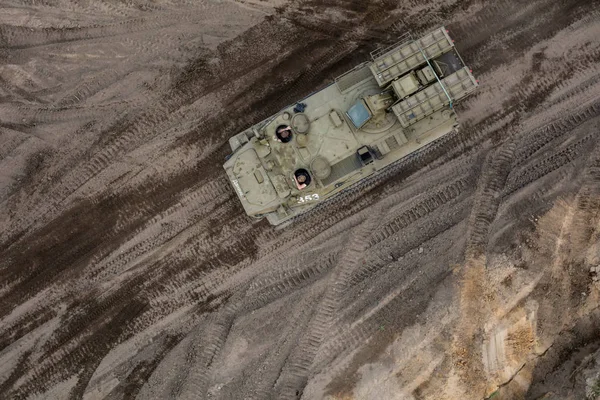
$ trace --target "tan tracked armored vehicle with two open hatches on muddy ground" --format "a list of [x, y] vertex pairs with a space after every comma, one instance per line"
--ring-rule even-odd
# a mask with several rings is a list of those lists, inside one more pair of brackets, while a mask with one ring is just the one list
[[457, 129], [453, 105], [478, 82], [444, 27], [371, 57], [229, 140], [249, 216], [281, 224]]

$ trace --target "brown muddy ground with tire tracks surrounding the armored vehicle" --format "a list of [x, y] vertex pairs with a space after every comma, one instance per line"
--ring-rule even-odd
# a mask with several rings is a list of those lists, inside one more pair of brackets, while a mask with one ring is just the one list
[[[445, 25], [462, 129], [275, 229], [227, 139]], [[0, 2], [0, 398], [600, 396], [600, 1]]]

